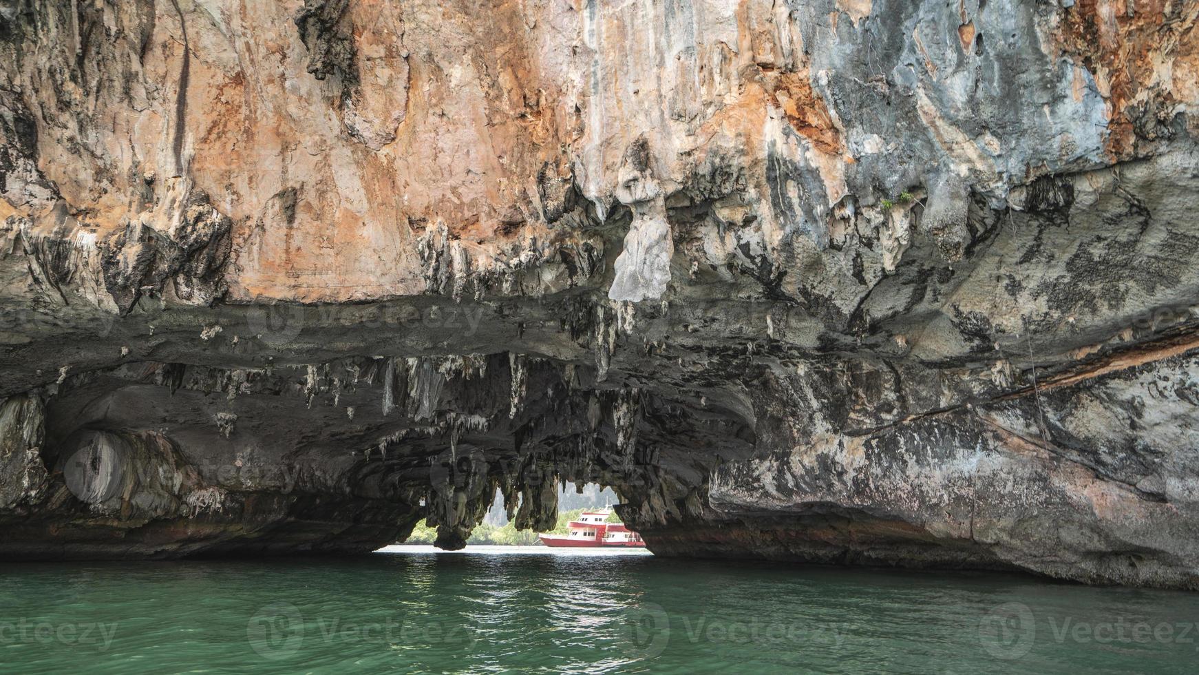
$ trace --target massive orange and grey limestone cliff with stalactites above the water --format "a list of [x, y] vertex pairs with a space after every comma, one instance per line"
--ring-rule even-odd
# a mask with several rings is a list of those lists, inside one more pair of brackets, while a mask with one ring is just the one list
[[659, 554], [1199, 587], [1197, 20], [2, 0], [0, 556], [600, 482]]

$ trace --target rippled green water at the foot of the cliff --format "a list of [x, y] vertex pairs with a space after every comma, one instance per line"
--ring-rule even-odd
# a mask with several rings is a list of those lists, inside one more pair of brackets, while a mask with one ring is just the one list
[[1199, 593], [394, 547], [0, 566], [2, 673], [1194, 673]]

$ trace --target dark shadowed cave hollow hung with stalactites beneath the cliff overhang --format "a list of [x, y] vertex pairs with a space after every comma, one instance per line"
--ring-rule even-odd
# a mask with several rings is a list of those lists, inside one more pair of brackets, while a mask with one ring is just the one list
[[[580, 317], [559, 309], [567, 323]], [[313, 339], [324, 329], [306, 326]], [[752, 456], [743, 391], [637, 381], [552, 351], [245, 367], [129, 361], [68, 375], [54, 396], [12, 404], [22, 424], [44, 429], [30, 447], [47, 469], [41, 489], [62, 508], [26, 523], [6, 553], [366, 553], [422, 522], [438, 531], [435, 546], [453, 550], [496, 493], [512, 528], [536, 534], [576, 507], [560, 507], [564, 492], [590, 494], [591, 484], [614, 492], [586, 506], [611, 506], [643, 532], [697, 517], [713, 471]], [[86, 528], [113, 517], [126, 523], [120, 548]], [[68, 543], [43, 544], [40, 531]]]

